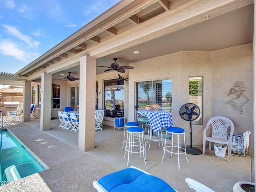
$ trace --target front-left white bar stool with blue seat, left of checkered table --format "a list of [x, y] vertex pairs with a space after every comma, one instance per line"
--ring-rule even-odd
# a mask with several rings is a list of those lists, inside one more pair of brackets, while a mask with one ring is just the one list
[[[130, 154], [132, 153], [143, 153], [143, 158], [144, 158], [144, 162], [146, 165], [146, 160], [145, 160], [145, 155], [144, 155], [144, 130], [140, 127], [129, 127], [126, 129], [127, 132], [127, 142], [126, 142], [126, 147], [125, 149], [125, 154], [124, 154], [124, 158], [126, 155], [126, 152], [128, 152], [128, 161], [127, 161], [127, 166], [129, 164], [129, 158], [130, 158]], [[139, 134], [138, 138], [134, 138], [134, 134]], [[141, 135], [140, 135], [141, 134]], [[129, 138], [128, 138], [129, 135]], [[137, 140], [137, 141], [134, 141]], [[132, 150], [132, 148], [135, 147], [135, 150]]]

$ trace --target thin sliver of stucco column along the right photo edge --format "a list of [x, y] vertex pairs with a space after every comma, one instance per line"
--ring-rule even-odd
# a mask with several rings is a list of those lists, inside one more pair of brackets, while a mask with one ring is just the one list
[[256, 0], [254, 3], [254, 24], [253, 24], [253, 138], [254, 138], [254, 183], [256, 183], [256, 162], [255, 162], [255, 154], [256, 154]]

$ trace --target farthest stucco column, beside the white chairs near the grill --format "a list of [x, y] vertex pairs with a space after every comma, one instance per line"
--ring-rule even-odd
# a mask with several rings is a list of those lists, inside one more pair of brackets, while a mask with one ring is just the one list
[[22, 121], [30, 121], [31, 81], [25, 81], [23, 86], [23, 116]]

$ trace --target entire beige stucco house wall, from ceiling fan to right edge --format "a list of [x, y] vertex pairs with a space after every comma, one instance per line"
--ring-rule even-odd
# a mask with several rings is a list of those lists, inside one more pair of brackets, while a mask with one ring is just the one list
[[[203, 142], [203, 130], [206, 122], [212, 116], [226, 116], [234, 122], [236, 134], [249, 130], [249, 154], [253, 155], [253, 52], [252, 44], [237, 46], [215, 52], [178, 52], [158, 58], [152, 58], [130, 64], [134, 69], [126, 70], [124, 76], [129, 77], [125, 84], [126, 121], [136, 119], [136, 82], [172, 78], [172, 120], [174, 126], [186, 131], [186, 144], [190, 144], [190, 122], [182, 120], [179, 115], [180, 107], [188, 103], [188, 77], [203, 76], [203, 109], [204, 125], [192, 125], [193, 146]], [[103, 81], [117, 78], [117, 72], [97, 76], [99, 88], [103, 90]], [[234, 110], [228, 104], [231, 88], [237, 81], [246, 85], [244, 94], [250, 100], [243, 106], [243, 113]], [[103, 106], [103, 96], [99, 96], [99, 108]], [[127, 107], [126, 107], [127, 106]], [[106, 121], [107, 123], [107, 121]], [[208, 144], [208, 143], [207, 143]]]

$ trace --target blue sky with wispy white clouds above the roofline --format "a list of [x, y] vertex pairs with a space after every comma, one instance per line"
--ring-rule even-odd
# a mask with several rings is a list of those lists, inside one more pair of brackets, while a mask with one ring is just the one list
[[119, 1], [1, 0], [0, 72], [18, 72]]

